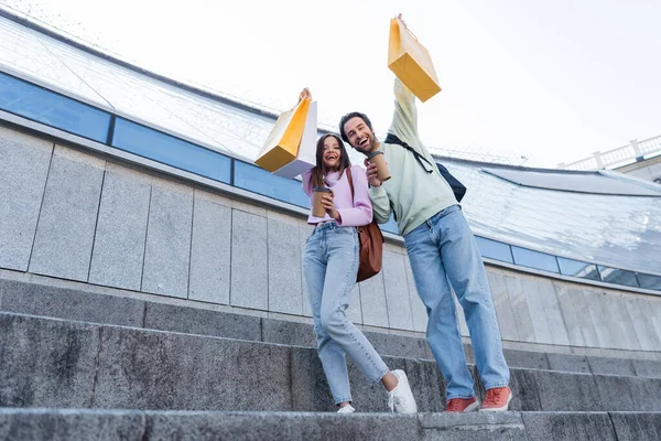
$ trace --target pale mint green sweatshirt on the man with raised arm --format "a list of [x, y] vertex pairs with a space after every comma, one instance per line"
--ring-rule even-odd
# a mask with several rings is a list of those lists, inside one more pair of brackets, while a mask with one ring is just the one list
[[398, 79], [394, 79], [394, 112], [390, 132], [411, 146], [433, 164], [433, 173], [425, 169], [413, 154], [398, 144], [381, 142], [382, 151], [392, 178], [381, 186], [371, 187], [375, 218], [384, 224], [390, 218], [391, 203], [400, 235], [404, 236], [440, 211], [457, 203], [449, 184], [441, 176], [436, 162], [418, 136], [418, 110], [415, 96]]

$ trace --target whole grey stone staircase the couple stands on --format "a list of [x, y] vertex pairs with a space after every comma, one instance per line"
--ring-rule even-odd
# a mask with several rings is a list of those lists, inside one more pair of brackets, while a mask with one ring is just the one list
[[0, 279], [0, 439], [661, 439], [661, 362], [506, 349], [512, 411], [444, 415], [425, 341], [369, 332], [420, 413], [350, 365], [337, 416], [310, 324], [151, 299]]

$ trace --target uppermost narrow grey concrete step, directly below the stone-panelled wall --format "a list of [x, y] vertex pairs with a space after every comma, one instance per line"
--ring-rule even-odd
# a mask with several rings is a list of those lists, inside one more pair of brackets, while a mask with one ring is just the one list
[[[163, 299], [163, 301], [169, 300]], [[0, 278], [0, 311], [303, 347], [316, 345], [314, 330], [310, 323], [2, 278]], [[365, 334], [379, 354], [433, 359], [429, 345], [422, 336], [383, 332], [365, 332]], [[465, 345], [465, 352], [467, 362], [474, 363], [469, 344]], [[505, 349], [505, 356], [510, 367], [661, 378], [661, 362], [651, 359], [518, 349]]]

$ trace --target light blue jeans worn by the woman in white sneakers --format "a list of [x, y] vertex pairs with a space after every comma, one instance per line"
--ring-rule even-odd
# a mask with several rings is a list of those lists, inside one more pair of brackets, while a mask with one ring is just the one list
[[356, 228], [332, 222], [314, 229], [303, 257], [317, 352], [336, 405], [351, 401], [345, 354], [371, 381], [388, 373], [379, 354], [346, 315], [358, 273], [358, 247]]

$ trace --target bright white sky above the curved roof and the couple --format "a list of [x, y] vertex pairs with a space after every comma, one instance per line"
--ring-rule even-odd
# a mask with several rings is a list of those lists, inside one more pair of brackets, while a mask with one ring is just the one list
[[661, 135], [658, 0], [0, 2], [40, 4], [145, 68], [275, 110], [307, 86], [321, 122], [360, 110], [381, 135], [389, 19], [402, 12], [443, 87], [419, 103], [430, 147], [552, 168]]

